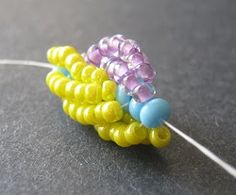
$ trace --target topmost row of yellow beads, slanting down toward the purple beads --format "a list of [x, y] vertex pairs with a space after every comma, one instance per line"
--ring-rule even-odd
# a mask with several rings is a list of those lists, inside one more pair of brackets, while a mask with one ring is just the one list
[[73, 79], [82, 83], [103, 83], [109, 79], [105, 70], [87, 65], [73, 47], [52, 47], [48, 50], [47, 57], [50, 63], [65, 67]]

